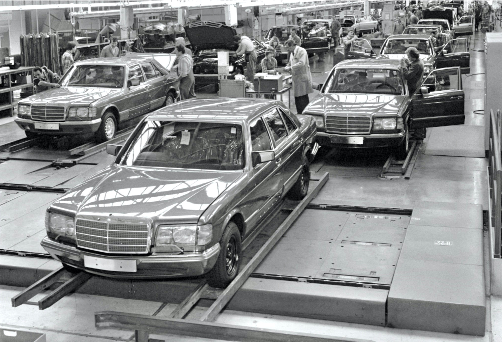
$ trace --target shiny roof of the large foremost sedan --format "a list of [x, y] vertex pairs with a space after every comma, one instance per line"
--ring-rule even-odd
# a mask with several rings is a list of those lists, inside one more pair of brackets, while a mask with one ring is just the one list
[[149, 120], [189, 119], [191, 121], [245, 122], [280, 101], [262, 98], [194, 98], [173, 103], [152, 112]]

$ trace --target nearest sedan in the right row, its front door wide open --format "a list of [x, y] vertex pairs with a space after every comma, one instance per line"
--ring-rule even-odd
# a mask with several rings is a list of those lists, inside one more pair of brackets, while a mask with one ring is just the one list
[[465, 119], [459, 67], [432, 70], [410, 94], [398, 60], [347, 60], [319, 90], [303, 113], [315, 119], [317, 141], [324, 146], [392, 146], [403, 157], [410, 130], [462, 125]]

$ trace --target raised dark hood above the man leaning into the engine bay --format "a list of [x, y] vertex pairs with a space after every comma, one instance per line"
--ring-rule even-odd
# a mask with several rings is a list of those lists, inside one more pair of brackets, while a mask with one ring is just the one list
[[[190, 44], [200, 49], [228, 48], [234, 50], [236, 44], [233, 43], [233, 36], [237, 33], [229, 26], [205, 25], [201, 22], [185, 26], [185, 33], [190, 40]], [[234, 50], [235, 51], [235, 50]]]

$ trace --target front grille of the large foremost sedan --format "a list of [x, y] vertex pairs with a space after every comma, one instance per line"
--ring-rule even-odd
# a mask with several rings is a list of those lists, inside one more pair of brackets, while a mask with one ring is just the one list
[[[102, 221], [101, 221], [102, 219]], [[115, 218], [77, 218], [77, 246], [106, 253], [148, 253], [149, 224], [145, 221], [127, 222]]]

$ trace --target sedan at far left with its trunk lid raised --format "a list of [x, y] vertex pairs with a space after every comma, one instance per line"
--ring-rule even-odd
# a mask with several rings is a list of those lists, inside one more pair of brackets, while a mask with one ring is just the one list
[[16, 124], [28, 138], [93, 133], [112, 139], [118, 124], [178, 97], [174, 54], [131, 54], [77, 62], [52, 88], [18, 103]]

